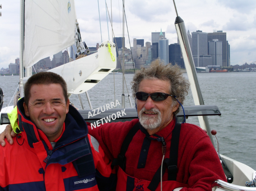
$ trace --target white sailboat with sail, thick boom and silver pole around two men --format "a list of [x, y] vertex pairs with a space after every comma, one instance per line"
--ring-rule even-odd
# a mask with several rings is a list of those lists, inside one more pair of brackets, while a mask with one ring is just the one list
[[[36, 5], [34, 4], [35, 2], [37, 3]], [[22, 64], [21, 64], [22, 66], [20, 70], [21, 95], [23, 94], [23, 84], [25, 83], [26, 79], [29, 76], [31, 76], [32, 74], [31, 66], [34, 63], [38, 62], [40, 59], [45, 58], [49, 55], [56, 54], [57, 52], [74, 44], [74, 40], [76, 40], [75, 43], [78, 49], [82, 50], [82, 52], [87, 51], [86, 46], [83, 46], [81, 43], [79, 25], [76, 22], [76, 16], [73, 10], [73, 7], [74, 7], [73, 1], [63, 0], [58, 5], [54, 4], [54, 7], [52, 7], [52, 5], [45, 5], [45, 3], [46, 2], [40, 2], [38, 0], [34, 0], [34, 1], [26, 0], [25, 4], [24, 2], [22, 4], [22, 8], [21, 8], [22, 34], [21, 34], [21, 57], [20, 57], [22, 61]], [[43, 19], [46, 19], [46, 18], [49, 19], [48, 23], [46, 22], [46, 26], [38, 27], [38, 24], [34, 24], [33, 26], [32, 25], [29, 26], [30, 28], [25, 27], [24, 29], [24, 22], [25, 23], [35, 22], [30, 20], [32, 18], [29, 18], [29, 15], [28, 15], [29, 12], [26, 12], [26, 10], [24, 11], [24, 6], [28, 10], [32, 10], [33, 14], [38, 13], [40, 17], [44, 17], [41, 15], [44, 15], [45, 13], [47, 13], [43, 18]], [[50, 10], [47, 11], [41, 8], [37, 9], [38, 7], [49, 7]], [[54, 16], [49, 16], [50, 12], [54, 12], [55, 9], [63, 10], [63, 11], [60, 11], [60, 13], [63, 14], [63, 16], [60, 16], [59, 18], [55, 18]], [[177, 10], [176, 10], [176, 13], [177, 13]], [[72, 15], [72, 18], [70, 18], [69, 14]], [[48, 25], [50, 25], [50, 27], [48, 27]], [[52, 28], [62, 29], [62, 27], [64, 27], [63, 25], [64, 26], [68, 25], [68, 27], [65, 30], [61, 30], [61, 31], [52, 30]], [[186, 66], [188, 78], [191, 83], [192, 95], [195, 102], [195, 106], [184, 107], [185, 114], [186, 116], [198, 116], [201, 128], [207, 131], [208, 135], [211, 137], [211, 140], [213, 142], [213, 137], [211, 136], [211, 129], [208, 123], [207, 115], [220, 115], [220, 112], [218, 107], [214, 105], [204, 105], [203, 98], [201, 96], [199, 82], [197, 80], [197, 73], [195, 70], [195, 65], [193, 62], [189, 41], [187, 39], [185, 24], [184, 24], [184, 21], [178, 16], [178, 13], [175, 19], [175, 27], [176, 27], [177, 35], [180, 41], [183, 59]], [[70, 31], [68, 32], [68, 30]], [[31, 31], [37, 31], [38, 33], [40, 33], [40, 35], [46, 36], [45, 40], [36, 38], [38, 37], [38, 36], [35, 36], [37, 34], [34, 34]], [[68, 35], [68, 33], [70, 34]], [[32, 38], [28, 38], [28, 41], [27, 39], [24, 39], [23, 41], [23, 37], [26, 36], [27, 38], [28, 35], [32, 35]], [[73, 38], [73, 36], [75, 36], [76, 38]], [[54, 43], [50, 40], [48, 41], [48, 38], [53, 39]], [[35, 41], [33, 41], [32, 39]], [[111, 45], [111, 51], [113, 55], [116, 56], [114, 43], [111, 41], [105, 41], [101, 44], [101, 48], [98, 50], [97, 53], [80, 58], [68, 64], [62, 65], [58, 68], [54, 68], [50, 71], [56, 72], [64, 77], [64, 79], [68, 84], [68, 91], [70, 95], [86, 92], [116, 67], [115, 66], [116, 63], [112, 61], [111, 55], [108, 52], [108, 48], [107, 48], [108, 43]], [[47, 49], [47, 50], [44, 50], [44, 49]], [[113, 114], [118, 111], [121, 111], [121, 109], [112, 109], [111, 111], [106, 111], [102, 114], [93, 116], [90, 119], [88, 119], [88, 113], [92, 112], [92, 110], [80, 110], [80, 113], [82, 114], [82, 116], [86, 121], [90, 123], [94, 123], [95, 121], [104, 118], [104, 116], [108, 116], [109, 114]], [[137, 113], [135, 108], [126, 109], [126, 114], [127, 115], [122, 116], [121, 118], [113, 121], [118, 121], [118, 120], [126, 121], [126, 120], [137, 118]], [[180, 121], [183, 120], [182, 113], [179, 113], [177, 117], [178, 117], [178, 120]], [[2, 115], [1, 115], [1, 119], [3, 119]], [[249, 188], [244, 186], [246, 181], [250, 181], [255, 178], [256, 171], [254, 171], [249, 166], [244, 165], [233, 159], [230, 159], [226, 156], [223, 156], [221, 154], [219, 154], [219, 156], [220, 156], [220, 160], [222, 161], [225, 173], [227, 175], [227, 181], [229, 183], [216, 180], [216, 182], [212, 185], [213, 191], [215, 190], [216, 191], [220, 191], [220, 190], [229, 190], [229, 191], [231, 190], [232, 191], [234, 190], [253, 191], [254, 190], [255, 191], [256, 190], [254, 188]]]

